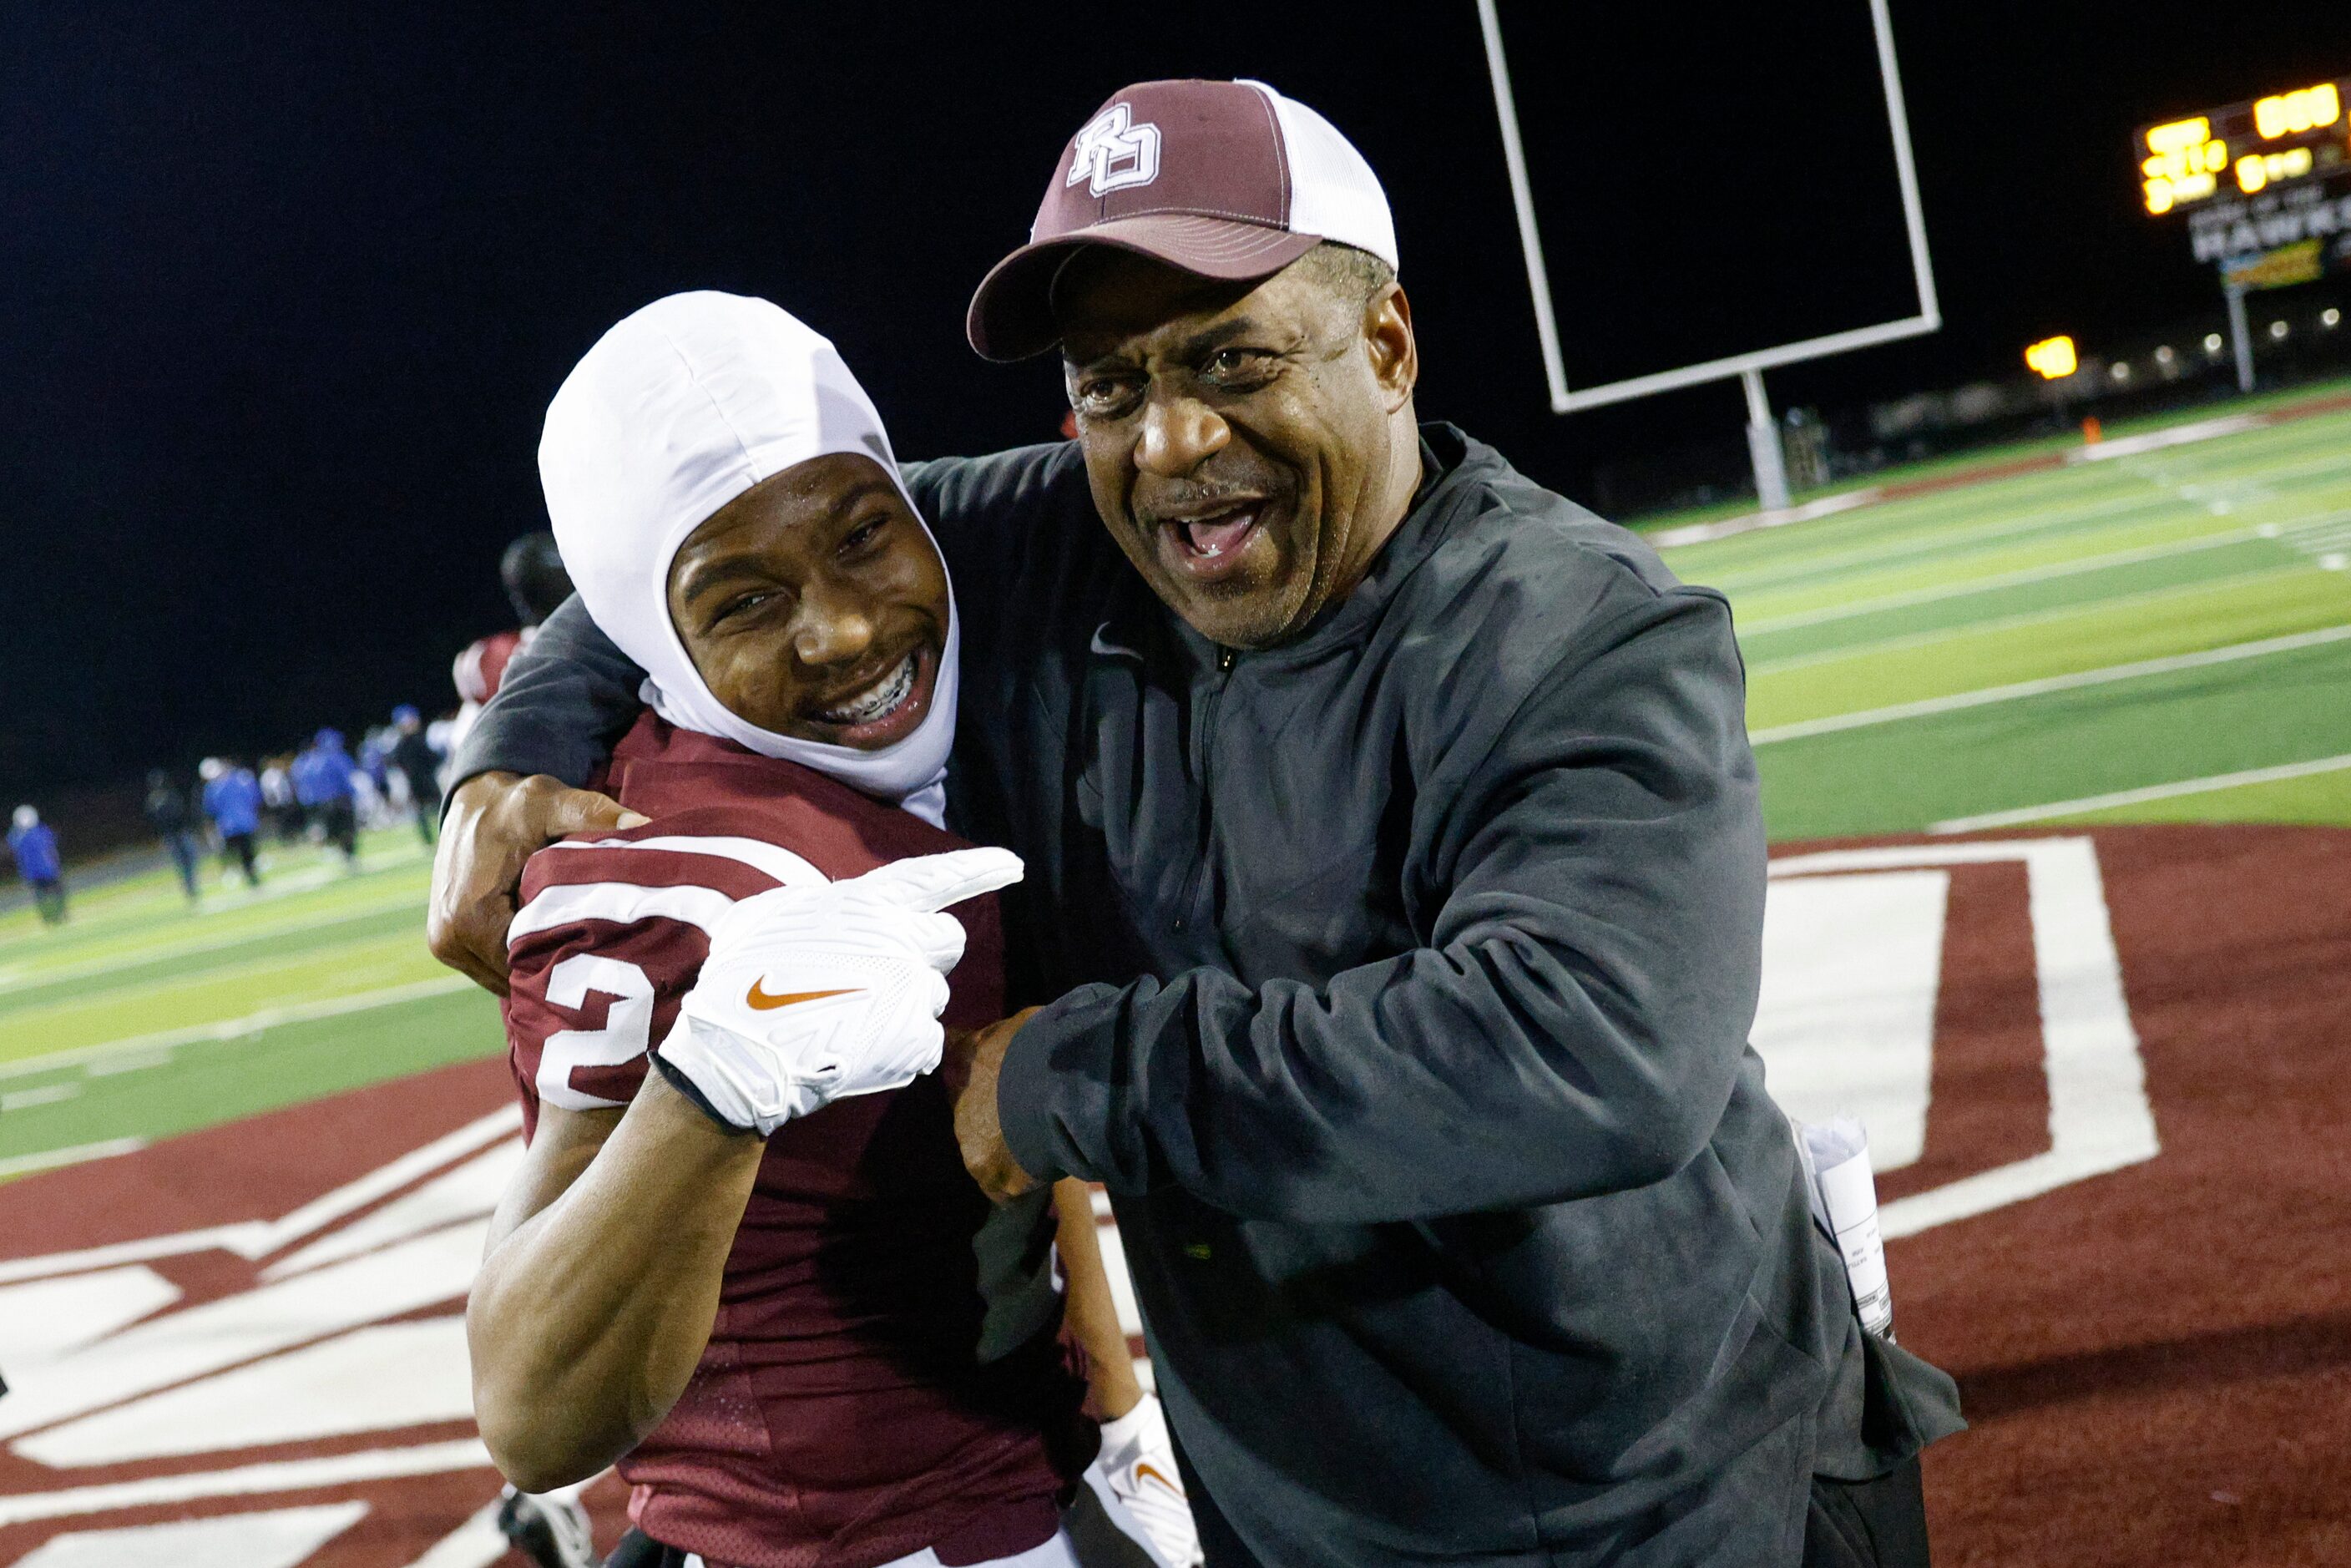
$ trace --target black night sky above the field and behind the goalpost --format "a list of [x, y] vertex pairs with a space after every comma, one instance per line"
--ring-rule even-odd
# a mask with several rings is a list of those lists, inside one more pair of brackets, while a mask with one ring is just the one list
[[[1657, 59], [1676, 31], [1697, 61], [1709, 9], [1505, 0], [1526, 19], [1521, 101], [1676, 71]], [[1782, 404], [2008, 374], [2052, 329], [2095, 346], [2208, 308], [2184, 237], [2135, 207], [2130, 129], [2351, 71], [2342, 0], [1893, 12], [1947, 327], [1775, 371]], [[1728, 42], [1730, 66], [1690, 68], [1791, 106], [1824, 92], [1817, 47]], [[0, 804], [447, 705], [449, 658], [505, 623], [498, 550], [543, 527], [545, 397], [658, 294], [804, 315], [903, 454], [1049, 437], [1056, 369], [978, 362], [964, 301], [1077, 122], [1152, 75], [1267, 78], [1364, 148], [1396, 207], [1425, 416], [1568, 494], [1599, 463], [1735, 430], [1730, 386], [1547, 411], [1469, 0], [14, 5]], [[1860, 113], [1850, 136], [1867, 162], [1883, 122]], [[1704, 169], [1657, 186], [1669, 207], [1707, 179], [1801, 179], [1756, 174], [1714, 127], [1634, 141], [1601, 127], [1596, 146]], [[1639, 256], [1643, 221], [1606, 214], [1615, 254]], [[1688, 315], [1665, 266], [1632, 289], [1610, 320]]]

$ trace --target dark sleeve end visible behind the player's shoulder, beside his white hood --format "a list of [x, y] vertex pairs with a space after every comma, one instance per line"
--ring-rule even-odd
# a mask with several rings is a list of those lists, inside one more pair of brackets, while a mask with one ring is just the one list
[[456, 748], [449, 792], [475, 773], [552, 773], [583, 788], [637, 722], [642, 684], [644, 670], [611, 646], [578, 597], [564, 599]]

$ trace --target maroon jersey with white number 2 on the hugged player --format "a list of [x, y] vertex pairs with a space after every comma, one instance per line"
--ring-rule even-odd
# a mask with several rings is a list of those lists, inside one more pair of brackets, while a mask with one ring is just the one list
[[[508, 938], [527, 1128], [541, 1103], [635, 1095], [734, 900], [964, 846], [651, 712], [604, 788], [654, 820], [534, 856]], [[945, 1018], [983, 1025], [1004, 1011], [997, 905], [952, 914], [969, 947]], [[618, 1465], [630, 1516], [738, 1568], [865, 1568], [924, 1547], [973, 1563], [1039, 1544], [1093, 1450], [1056, 1342], [1051, 1241], [1044, 1192], [997, 1208], [964, 1173], [936, 1074], [785, 1124], [701, 1368]]]

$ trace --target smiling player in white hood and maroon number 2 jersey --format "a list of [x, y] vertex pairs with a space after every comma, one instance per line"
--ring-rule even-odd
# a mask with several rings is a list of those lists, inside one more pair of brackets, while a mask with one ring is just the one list
[[[1079, 1288], [1091, 1208], [1063, 1194], [1065, 1333], [1053, 1192], [992, 1206], [926, 1077], [940, 1011], [1004, 1013], [987, 889], [1018, 863], [940, 825], [959, 632], [872, 404], [776, 306], [682, 294], [571, 371], [538, 461], [651, 708], [602, 780], [628, 813], [534, 856], [508, 933], [529, 1157], [468, 1307], [498, 1467], [545, 1493], [618, 1462], [635, 1561], [668, 1568], [1074, 1566], [1081, 1483], [1124, 1561], [1197, 1561], [1107, 1288]], [[778, 886], [837, 900], [776, 931]], [[955, 912], [903, 964], [830, 959], [870, 898]], [[882, 1009], [929, 1053], [783, 1060], [785, 1009], [839, 1039]], [[1103, 1441], [1072, 1338], [1117, 1347]]]

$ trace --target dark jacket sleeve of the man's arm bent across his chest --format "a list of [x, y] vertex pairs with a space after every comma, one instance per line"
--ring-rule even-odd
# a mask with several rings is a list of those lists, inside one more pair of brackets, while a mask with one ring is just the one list
[[1648, 595], [1420, 769], [1429, 945], [1328, 985], [1072, 992], [1013, 1039], [1032, 1175], [1241, 1218], [1427, 1220], [1665, 1180], [1712, 1140], [1761, 973], [1763, 825], [1721, 599]]

